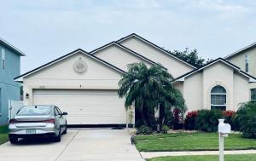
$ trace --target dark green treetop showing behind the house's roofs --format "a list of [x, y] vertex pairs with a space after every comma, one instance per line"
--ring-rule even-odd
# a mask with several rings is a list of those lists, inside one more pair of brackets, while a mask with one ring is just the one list
[[184, 60], [188, 62], [190, 65], [195, 67], [201, 67], [205, 65], [207, 62], [212, 61], [212, 59], [205, 60], [200, 56], [198, 56], [197, 49], [189, 50], [188, 48], [186, 48], [183, 51], [179, 51], [179, 50], [174, 50], [174, 51], [167, 50], [167, 51], [172, 55], [176, 55], [179, 59]]

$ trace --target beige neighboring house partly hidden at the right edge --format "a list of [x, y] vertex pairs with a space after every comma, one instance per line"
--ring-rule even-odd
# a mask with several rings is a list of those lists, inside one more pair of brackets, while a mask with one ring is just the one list
[[[224, 59], [239, 66], [243, 72], [256, 77], [256, 43], [252, 43], [245, 48], [227, 55]], [[256, 83], [250, 84], [251, 100], [256, 101]]]

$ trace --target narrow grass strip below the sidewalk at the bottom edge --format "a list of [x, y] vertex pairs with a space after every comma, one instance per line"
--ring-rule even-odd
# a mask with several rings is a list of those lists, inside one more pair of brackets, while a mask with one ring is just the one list
[[[147, 161], [218, 161], [218, 155], [151, 158]], [[256, 154], [225, 155], [225, 161], [255, 161]]]

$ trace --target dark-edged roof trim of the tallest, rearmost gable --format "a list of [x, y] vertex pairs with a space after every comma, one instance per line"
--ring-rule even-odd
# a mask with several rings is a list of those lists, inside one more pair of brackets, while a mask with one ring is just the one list
[[126, 39], [131, 38], [131, 37], [137, 37], [137, 39], [139, 39], [139, 40], [143, 41], [144, 43], [147, 43], [148, 45], [154, 47], [154, 49], [158, 49], [158, 50], [160, 50], [161, 52], [163, 52], [164, 54], [169, 55], [169, 56], [171, 56], [172, 58], [174, 58], [174, 59], [176, 59], [176, 60], [179, 60], [179, 61], [183, 62], [184, 64], [186, 64], [186, 65], [188, 65], [188, 66], [191, 66], [191, 67], [193, 67], [194, 69], [196, 69], [195, 66], [192, 66], [192, 65], [190, 65], [188, 62], [186, 62], [186, 61], [184, 61], [184, 60], [181, 60], [181, 59], [178, 58], [176, 55], [173, 55], [172, 53], [166, 51], [166, 49], [161, 48], [160, 46], [156, 45], [155, 43], [152, 43], [152, 42], [148, 41], [147, 39], [138, 36], [136, 33], [131, 33], [130, 35], [128, 35], [128, 36], [126, 36], [126, 37], [122, 37], [122, 38], [120, 38], [119, 40], [117, 40], [117, 42], [118, 42], [118, 43], [121, 43], [121, 42], [123, 42], [123, 41], [125, 41]]

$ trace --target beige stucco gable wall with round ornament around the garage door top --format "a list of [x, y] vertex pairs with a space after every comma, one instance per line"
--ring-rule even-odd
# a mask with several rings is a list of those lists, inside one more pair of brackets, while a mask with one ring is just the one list
[[[73, 69], [76, 60], [84, 60], [88, 66], [84, 74], [78, 74]], [[48, 66], [23, 79], [24, 104], [32, 104], [32, 89], [118, 89], [121, 73], [87, 55], [76, 54], [66, 60]]]

